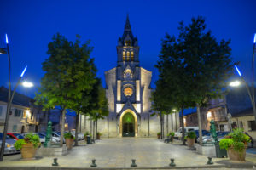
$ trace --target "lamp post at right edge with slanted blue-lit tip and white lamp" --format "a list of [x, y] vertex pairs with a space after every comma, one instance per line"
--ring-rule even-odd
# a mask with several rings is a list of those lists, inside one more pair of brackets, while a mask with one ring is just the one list
[[[252, 90], [252, 93], [250, 91], [250, 88], [249, 88], [249, 85], [248, 83], [244, 80], [244, 78], [241, 76], [241, 71], [239, 71], [237, 65], [235, 65], [235, 68], [236, 68], [236, 71], [237, 71], [237, 74], [239, 75], [239, 77], [241, 78], [241, 81], [244, 82], [246, 88], [247, 88], [247, 93], [250, 97], [250, 100], [251, 100], [251, 103], [252, 103], [252, 106], [253, 106], [253, 115], [254, 115], [254, 121], [256, 122], [256, 108], [255, 108], [255, 99], [254, 99], [254, 94], [253, 94], [253, 90]], [[240, 84], [240, 82], [236, 81], [236, 82], [230, 82], [230, 86], [238, 86]], [[252, 83], [253, 85], [253, 83]]]

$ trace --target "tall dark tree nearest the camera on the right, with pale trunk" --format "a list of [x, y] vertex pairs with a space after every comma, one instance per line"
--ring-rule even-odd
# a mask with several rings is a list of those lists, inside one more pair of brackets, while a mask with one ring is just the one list
[[201, 144], [200, 107], [209, 99], [220, 98], [224, 94], [226, 81], [232, 75], [230, 40], [218, 42], [211, 31], [206, 31], [205, 20], [200, 16], [192, 18], [189, 26], [181, 23], [178, 42], [186, 63], [191, 99], [196, 103]]

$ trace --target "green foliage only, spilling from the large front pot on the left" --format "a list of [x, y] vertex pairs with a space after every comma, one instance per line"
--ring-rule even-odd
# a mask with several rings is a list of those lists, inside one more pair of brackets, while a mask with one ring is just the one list
[[20, 150], [24, 144], [33, 144], [35, 148], [40, 144], [40, 139], [37, 134], [28, 133], [24, 139], [17, 140], [15, 142], [15, 149]]

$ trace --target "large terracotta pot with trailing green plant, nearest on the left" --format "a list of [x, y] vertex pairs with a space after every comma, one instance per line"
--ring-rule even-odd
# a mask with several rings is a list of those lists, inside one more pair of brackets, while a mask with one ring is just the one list
[[21, 150], [21, 157], [23, 159], [32, 159], [35, 157], [40, 144], [38, 135], [28, 133], [24, 139], [20, 139], [15, 142], [15, 149]]

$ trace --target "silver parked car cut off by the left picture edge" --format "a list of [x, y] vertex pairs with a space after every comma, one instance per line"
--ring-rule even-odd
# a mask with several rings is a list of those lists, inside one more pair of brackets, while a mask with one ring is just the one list
[[[3, 141], [3, 133], [0, 133], [0, 150], [2, 146], [2, 141]], [[16, 141], [17, 141], [16, 139], [11, 139], [9, 135], [6, 135], [5, 147], [3, 152], [4, 155], [20, 153], [20, 150], [15, 149], [14, 144]]]

